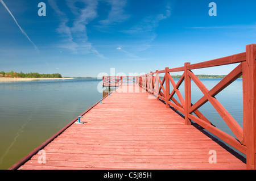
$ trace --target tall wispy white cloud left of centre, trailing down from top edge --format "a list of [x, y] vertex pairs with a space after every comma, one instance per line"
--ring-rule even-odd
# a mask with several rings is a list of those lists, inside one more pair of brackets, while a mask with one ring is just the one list
[[[56, 14], [59, 16], [60, 25], [57, 28], [57, 32], [64, 37], [63, 42], [60, 44], [60, 48], [65, 48], [70, 50], [72, 53], [94, 53], [98, 57], [105, 58], [102, 54], [98, 52], [93, 46], [92, 43], [88, 42], [88, 35], [86, 26], [97, 17], [97, 5], [98, 1], [96, 0], [66, 0], [69, 9], [75, 15], [75, 20], [71, 20], [61, 11], [57, 2], [55, 0], [48, 0], [49, 5], [55, 10]], [[84, 7], [77, 8], [75, 3], [82, 3]], [[72, 24], [72, 26], [68, 26]]]

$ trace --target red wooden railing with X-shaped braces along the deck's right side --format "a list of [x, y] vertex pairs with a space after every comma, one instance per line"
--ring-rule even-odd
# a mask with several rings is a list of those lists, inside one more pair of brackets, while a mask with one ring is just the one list
[[[198, 64], [190, 64], [186, 62], [180, 68], [165, 68], [164, 70], [156, 70], [146, 75], [136, 77], [136, 83], [154, 94], [157, 99], [161, 99], [166, 104], [166, 108], [173, 107], [182, 113], [185, 117], [186, 125], [191, 125], [191, 120], [214, 134], [222, 141], [225, 141], [233, 148], [241, 151], [246, 155], [247, 169], [256, 169], [256, 44], [246, 45], [246, 52], [234, 54], [228, 57], [218, 58], [200, 62]], [[210, 68], [215, 66], [238, 64], [225, 78], [223, 78], [211, 90], [200, 81], [192, 72], [194, 69]], [[170, 73], [181, 71], [183, 74], [177, 83], [175, 83]], [[164, 74], [163, 78], [159, 74]], [[216, 99], [216, 95], [242, 76], [243, 90], [243, 127], [241, 127], [230, 113]], [[191, 103], [191, 80], [195, 82], [203, 92], [203, 97], [196, 103]], [[181, 95], [179, 87], [184, 82], [184, 97]], [[177, 95], [177, 99], [174, 95]], [[219, 113], [234, 135], [221, 131], [214, 127], [199, 108], [205, 103], [210, 102], [214, 109]]]

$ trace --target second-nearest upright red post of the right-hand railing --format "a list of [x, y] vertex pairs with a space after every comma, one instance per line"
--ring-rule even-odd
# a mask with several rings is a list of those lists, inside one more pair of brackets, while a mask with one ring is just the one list
[[189, 62], [184, 64], [184, 81], [185, 81], [185, 125], [191, 125], [191, 120], [188, 118], [188, 110], [191, 107], [191, 78], [188, 75]]

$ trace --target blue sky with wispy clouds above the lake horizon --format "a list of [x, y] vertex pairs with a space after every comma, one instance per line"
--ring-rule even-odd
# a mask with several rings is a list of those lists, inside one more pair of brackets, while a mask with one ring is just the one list
[[[0, 3], [2, 71], [147, 73], [245, 52], [256, 43], [255, 0], [1, 1], [10, 11]], [[46, 16], [38, 15], [40, 2]], [[217, 16], [209, 16], [210, 2]], [[227, 74], [231, 68], [195, 73]]]

